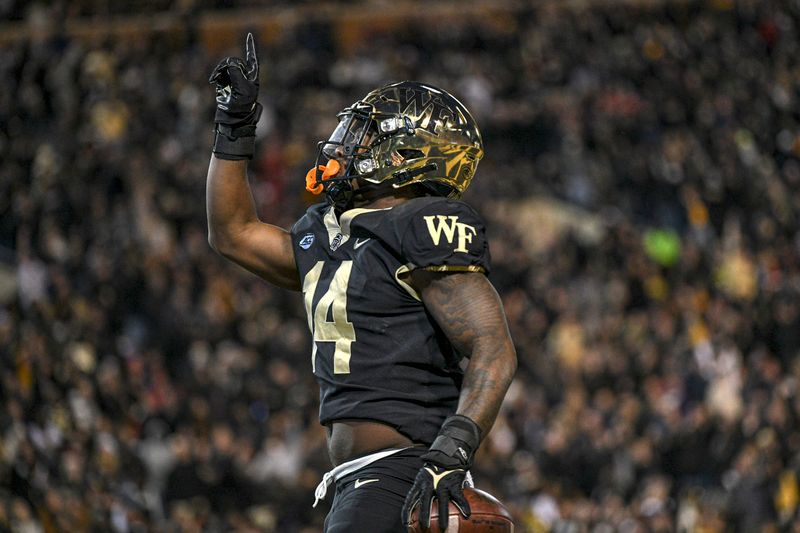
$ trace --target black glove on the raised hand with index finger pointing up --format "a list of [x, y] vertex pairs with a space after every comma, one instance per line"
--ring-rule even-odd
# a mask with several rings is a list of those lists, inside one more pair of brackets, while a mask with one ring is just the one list
[[258, 58], [253, 34], [247, 34], [245, 60], [226, 57], [216, 66], [209, 83], [216, 85], [214, 154], [220, 159], [252, 159], [256, 124], [262, 107], [258, 98]]

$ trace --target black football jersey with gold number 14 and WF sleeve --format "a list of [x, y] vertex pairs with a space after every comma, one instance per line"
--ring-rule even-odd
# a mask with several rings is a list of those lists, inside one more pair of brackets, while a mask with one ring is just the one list
[[320, 386], [320, 422], [368, 419], [430, 444], [455, 412], [461, 357], [403, 281], [416, 268], [488, 272], [480, 217], [460, 201], [324, 204], [292, 227]]

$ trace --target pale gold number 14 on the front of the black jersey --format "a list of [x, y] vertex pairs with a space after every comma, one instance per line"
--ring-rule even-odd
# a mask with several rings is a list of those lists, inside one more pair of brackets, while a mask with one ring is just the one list
[[[316, 370], [317, 343], [333, 342], [333, 373], [350, 373], [350, 348], [356, 340], [356, 330], [353, 323], [347, 320], [347, 284], [350, 282], [350, 273], [353, 270], [352, 261], [342, 261], [328, 290], [317, 302], [312, 311], [314, 295], [317, 292], [319, 278], [322, 275], [323, 261], [317, 261], [314, 268], [308, 271], [303, 279], [303, 299], [306, 304], [308, 328], [314, 336], [314, 347], [311, 350], [311, 368]], [[330, 320], [328, 317], [330, 316]]]

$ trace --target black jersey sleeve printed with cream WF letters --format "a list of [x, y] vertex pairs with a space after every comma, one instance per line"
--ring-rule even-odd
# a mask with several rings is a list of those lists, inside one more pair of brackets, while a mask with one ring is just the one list
[[486, 227], [467, 204], [455, 200], [429, 203], [413, 213], [401, 239], [409, 268], [437, 272], [489, 272]]

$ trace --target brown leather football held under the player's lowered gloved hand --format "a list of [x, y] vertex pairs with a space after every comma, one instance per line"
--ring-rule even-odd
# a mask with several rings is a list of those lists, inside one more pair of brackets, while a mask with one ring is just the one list
[[[464, 518], [451, 502], [447, 533], [513, 533], [514, 522], [511, 513], [500, 501], [486, 491], [466, 488], [464, 496], [469, 502], [469, 518]], [[439, 530], [439, 506], [436, 500], [431, 509], [431, 527], [423, 528], [419, 523], [419, 506], [411, 513], [408, 533], [441, 533]]]

